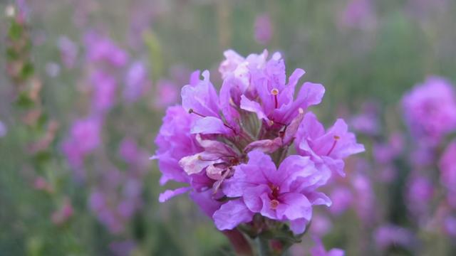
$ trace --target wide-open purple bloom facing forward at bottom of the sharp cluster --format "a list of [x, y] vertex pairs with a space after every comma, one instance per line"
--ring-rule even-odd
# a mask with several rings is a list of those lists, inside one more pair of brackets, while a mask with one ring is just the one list
[[303, 233], [312, 216], [312, 205], [330, 206], [331, 201], [316, 188], [331, 175], [318, 171], [309, 157], [289, 156], [276, 169], [271, 157], [252, 151], [247, 164], [236, 167], [234, 176], [224, 183], [223, 192], [239, 198], [222, 205], [214, 215], [219, 230], [252, 220], [254, 213], [291, 223], [294, 233]]

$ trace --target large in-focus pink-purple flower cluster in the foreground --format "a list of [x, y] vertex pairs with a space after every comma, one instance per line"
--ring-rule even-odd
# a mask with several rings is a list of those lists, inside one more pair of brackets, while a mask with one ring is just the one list
[[[209, 72], [192, 75], [182, 105], [169, 107], [155, 143], [160, 183], [187, 183], [160, 201], [190, 191], [219, 230], [253, 225], [254, 216], [289, 223], [303, 233], [316, 205], [331, 206], [318, 188], [333, 174], [345, 176], [347, 156], [364, 151], [343, 119], [325, 129], [307, 111], [318, 105], [323, 85], [304, 82], [304, 70], [286, 78], [280, 53], [246, 58], [227, 50], [217, 93]], [[297, 154], [289, 155], [289, 149]]]

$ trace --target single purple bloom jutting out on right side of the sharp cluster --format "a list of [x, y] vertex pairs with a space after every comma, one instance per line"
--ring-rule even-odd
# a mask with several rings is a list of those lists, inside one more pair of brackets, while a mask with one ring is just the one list
[[364, 151], [364, 146], [356, 142], [355, 134], [348, 132], [343, 119], [337, 119], [333, 127], [325, 131], [312, 112], [304, 116], [295, 144], [299, 154], [310, 156], [318, 167], [331, 169], [341, 176], [345, 176], [343, 159]]

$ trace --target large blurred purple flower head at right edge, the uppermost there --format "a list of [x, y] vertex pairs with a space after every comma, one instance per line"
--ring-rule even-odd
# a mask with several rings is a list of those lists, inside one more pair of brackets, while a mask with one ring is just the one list
[[403, 112], [417, 140], [437, 144], [456, 129], [456, 96], [444, 78], [429, 77], [403, 97]]

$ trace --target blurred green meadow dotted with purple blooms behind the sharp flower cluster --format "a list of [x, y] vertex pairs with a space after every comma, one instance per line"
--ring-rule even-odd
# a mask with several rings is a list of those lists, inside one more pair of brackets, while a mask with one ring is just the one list
[[165, 188], [149, 160], [166, 107], [193, 70], [209, 69], [219, 87], [227, 49], [282, 53], [287, 73], [303, 68], [326, 87], [318, 117], [345, 118], [366, 145], [328, 188], [333, 207], [315, 210], [310, 233], [347, 255], [455, 252], [440, 169], [415, 162], [401, 99], [432, 75], [454, 88], [456, 1], [4, 0], [0, 9], [0, 255], [230, 255], [187, 196], [158, 203]]

